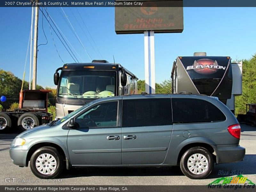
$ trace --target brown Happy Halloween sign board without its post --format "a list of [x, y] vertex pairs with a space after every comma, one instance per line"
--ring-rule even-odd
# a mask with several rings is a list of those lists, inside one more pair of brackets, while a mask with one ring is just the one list
[[[116, 0], [118, 1], [120, 2]], [[136, 5], [116, 5], [116, 34], [144, 33], [144, 31], [181, 33], [183, 31], [183, 1], [130, 0], [126, 2], [133, 4], [136, 2]]]

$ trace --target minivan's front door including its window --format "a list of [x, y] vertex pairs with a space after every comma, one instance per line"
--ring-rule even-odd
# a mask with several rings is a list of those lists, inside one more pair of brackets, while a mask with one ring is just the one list
[[72, 165], [121, 164], [118, 103], [97, 103], [75, 117], [77, 127], [69, 130], [67, 142]]

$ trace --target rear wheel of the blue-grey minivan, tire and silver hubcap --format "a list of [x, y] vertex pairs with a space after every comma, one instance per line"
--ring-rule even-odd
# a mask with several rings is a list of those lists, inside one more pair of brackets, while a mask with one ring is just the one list
[[203, 147], [190, 148], [181, 157], [180, 169], [190, 179], [204, 179], [213, 169], [212, 154]]

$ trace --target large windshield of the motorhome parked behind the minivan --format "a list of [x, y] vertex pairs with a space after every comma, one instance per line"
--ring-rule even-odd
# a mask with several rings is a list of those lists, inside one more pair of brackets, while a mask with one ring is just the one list
[[58, 97], [103, 98], [115, 96], [116, 71], [63, 71]]

